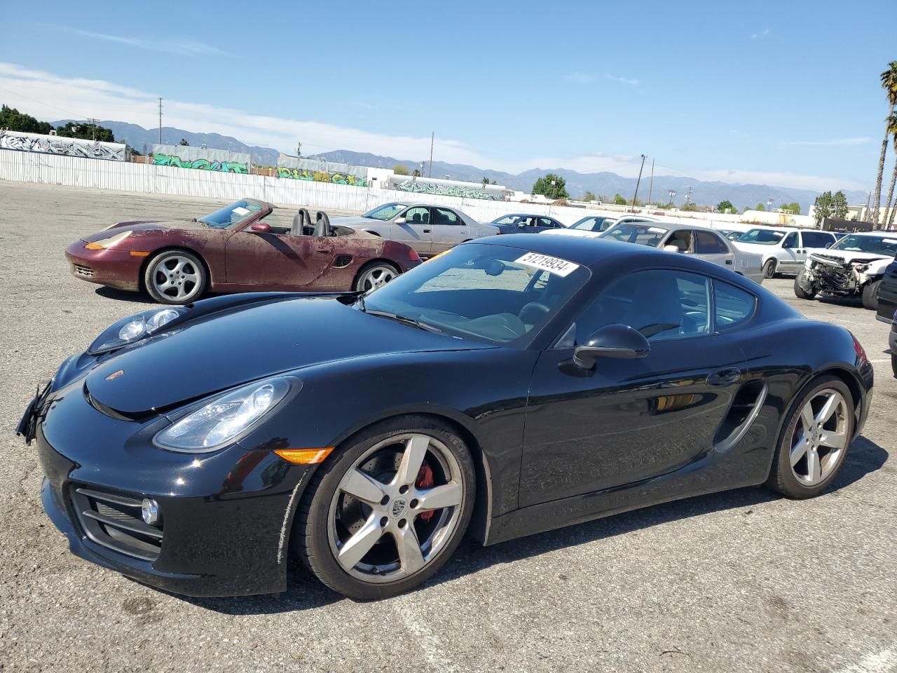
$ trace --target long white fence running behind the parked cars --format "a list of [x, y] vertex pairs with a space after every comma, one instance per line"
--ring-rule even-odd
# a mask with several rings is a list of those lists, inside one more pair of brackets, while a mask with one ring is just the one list
[[[101, 162], [81, 157], [56, 156], [0, 150], [0, 179], [39, 182], [70, 187], [116, 189], [144, 194], [203, 197], [221, 201], [257, 198], [277, 205], [304, 205], [322, 210], [365, 213], [389, 201], [413, 199], [431, 205], [450, 205], [478, 222], [492, 222], [503, 214], [551, 215], [572, 224], [588, 214], [622, 214], [623, 208], [596, 209], [570, 206], [520, 204], [478, 198], [407, 194], [377, 187], [353, 187], [310, 180], [278, 179], [263, 175], [241, 175], [214, 170], [153, 166], [147, 163]], [[738, 220], [737, 215], [706, 213], [664, 214], [664, 219], [695, 219], [701, 224], [721, 226]]]

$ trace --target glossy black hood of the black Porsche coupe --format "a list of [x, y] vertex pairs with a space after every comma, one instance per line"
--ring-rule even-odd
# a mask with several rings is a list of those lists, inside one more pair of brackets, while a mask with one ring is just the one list
[[[367, 356], [490, 348], [378, 318], [327, 297], [271, 302], [181, 323], [87, 375], [97, 406], [145, 416], [251, 380]], [[299, 373], [301, 376], [301, 373]]]

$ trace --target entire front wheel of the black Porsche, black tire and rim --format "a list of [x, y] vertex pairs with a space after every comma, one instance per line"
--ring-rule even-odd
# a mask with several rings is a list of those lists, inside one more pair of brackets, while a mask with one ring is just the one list
[[[419, 469], [415, 457], [422, 457]], [[410, 488], [396, 477], [405, 469], [414, 473]], [[296, 513], [292, 546], [318, 580], [344, 596], [396, 596], [448, 561], [470, 522], [475, 491], [465, 442], [428, 417], [400, 416], [356, 434], [318, 468]], [[446, 504], [424, 510], [428, 493]]]

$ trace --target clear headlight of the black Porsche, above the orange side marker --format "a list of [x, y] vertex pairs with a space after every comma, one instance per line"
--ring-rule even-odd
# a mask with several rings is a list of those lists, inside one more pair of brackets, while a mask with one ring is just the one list
[[301, 381], [278, 376], [250, 383], [215, 398], [155, 436], [163, 449], [203, 453], [219, 449], [259, 424]]

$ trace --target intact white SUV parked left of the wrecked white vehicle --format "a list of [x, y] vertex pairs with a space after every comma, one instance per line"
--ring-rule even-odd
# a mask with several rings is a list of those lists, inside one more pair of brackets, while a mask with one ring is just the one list
[[807, 249], [824, 249], [837, 240], [832, 232], [757, 227], [732, 241], [735, 247], [760, 255], [763, 277], [797, 274], [806, 261]]

